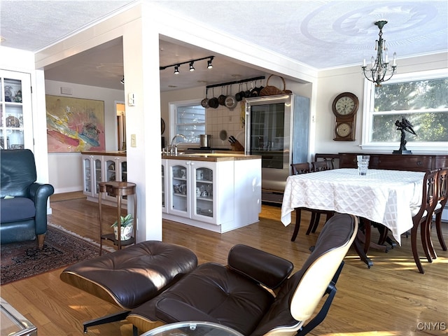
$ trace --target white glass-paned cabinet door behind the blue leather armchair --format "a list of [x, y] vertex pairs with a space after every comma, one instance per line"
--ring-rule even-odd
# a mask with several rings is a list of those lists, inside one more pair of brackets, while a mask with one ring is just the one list
[[0, 148], [32, 148], [32, 139], [30, 75], [1, 70]]

